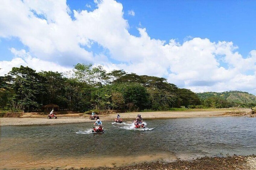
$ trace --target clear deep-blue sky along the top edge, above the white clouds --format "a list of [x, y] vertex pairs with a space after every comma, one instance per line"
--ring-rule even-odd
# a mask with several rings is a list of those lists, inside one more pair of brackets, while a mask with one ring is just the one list
[[[255, 1], [118, 1], [123, 4], [129, 32], [139, 36], [141, 23], [151, 38], [183, 42], [187, 36], [209, 38], [211, 41], [232, 41], [247, 56], [256, 48]], [[73, 10], [95, 9], [92, 0], [68, 0]], [[91, 5], [92, 9], [86, 7]], [[127, 11], [135, 11], [135, 16]]]

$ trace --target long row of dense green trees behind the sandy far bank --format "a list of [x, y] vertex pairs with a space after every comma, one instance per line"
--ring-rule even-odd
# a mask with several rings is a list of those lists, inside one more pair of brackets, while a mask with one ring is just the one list
[[[65, 74], [65, 75], [64, 75]], [[139, 76], [123, 70], [107, 73], [102, 66], [74, 66], [70, 73], [13, 67], [0, 77], [0, 110], [41, 111], [56, 104], [59, 110], [169, 110], [170, 108], [231, 107], [221, 97], [200, 99], [165, 78]]]

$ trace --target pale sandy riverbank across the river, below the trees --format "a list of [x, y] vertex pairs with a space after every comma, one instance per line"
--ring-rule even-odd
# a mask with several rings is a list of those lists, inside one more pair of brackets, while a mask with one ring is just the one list
[[[214, 117], [214, 116], [233, 116], [227, 112], [230, 109], [219, 110], [195, 110], [195, 111], [178, 111], [178, 112], [139, 112], [139, 113], [120, 113], [123, 120], [135, 119], [137, 114], [141, 114], [146, 119], [172, 119], [172, 118], [190, 118], [190, 117]], [[89, 120], [89, 115], [68, 114], [57, 115], [58, 119], [47, 119], [46, 116], [24, 114], [21, 118], [0, 118], [0, 126], [9, 125], [47, 125], [47, 124], [64, 124], [64, 123], [83, 123], [94, 122]], [[116, 114], [99, 115], [102, 121], [114, 120]]]

